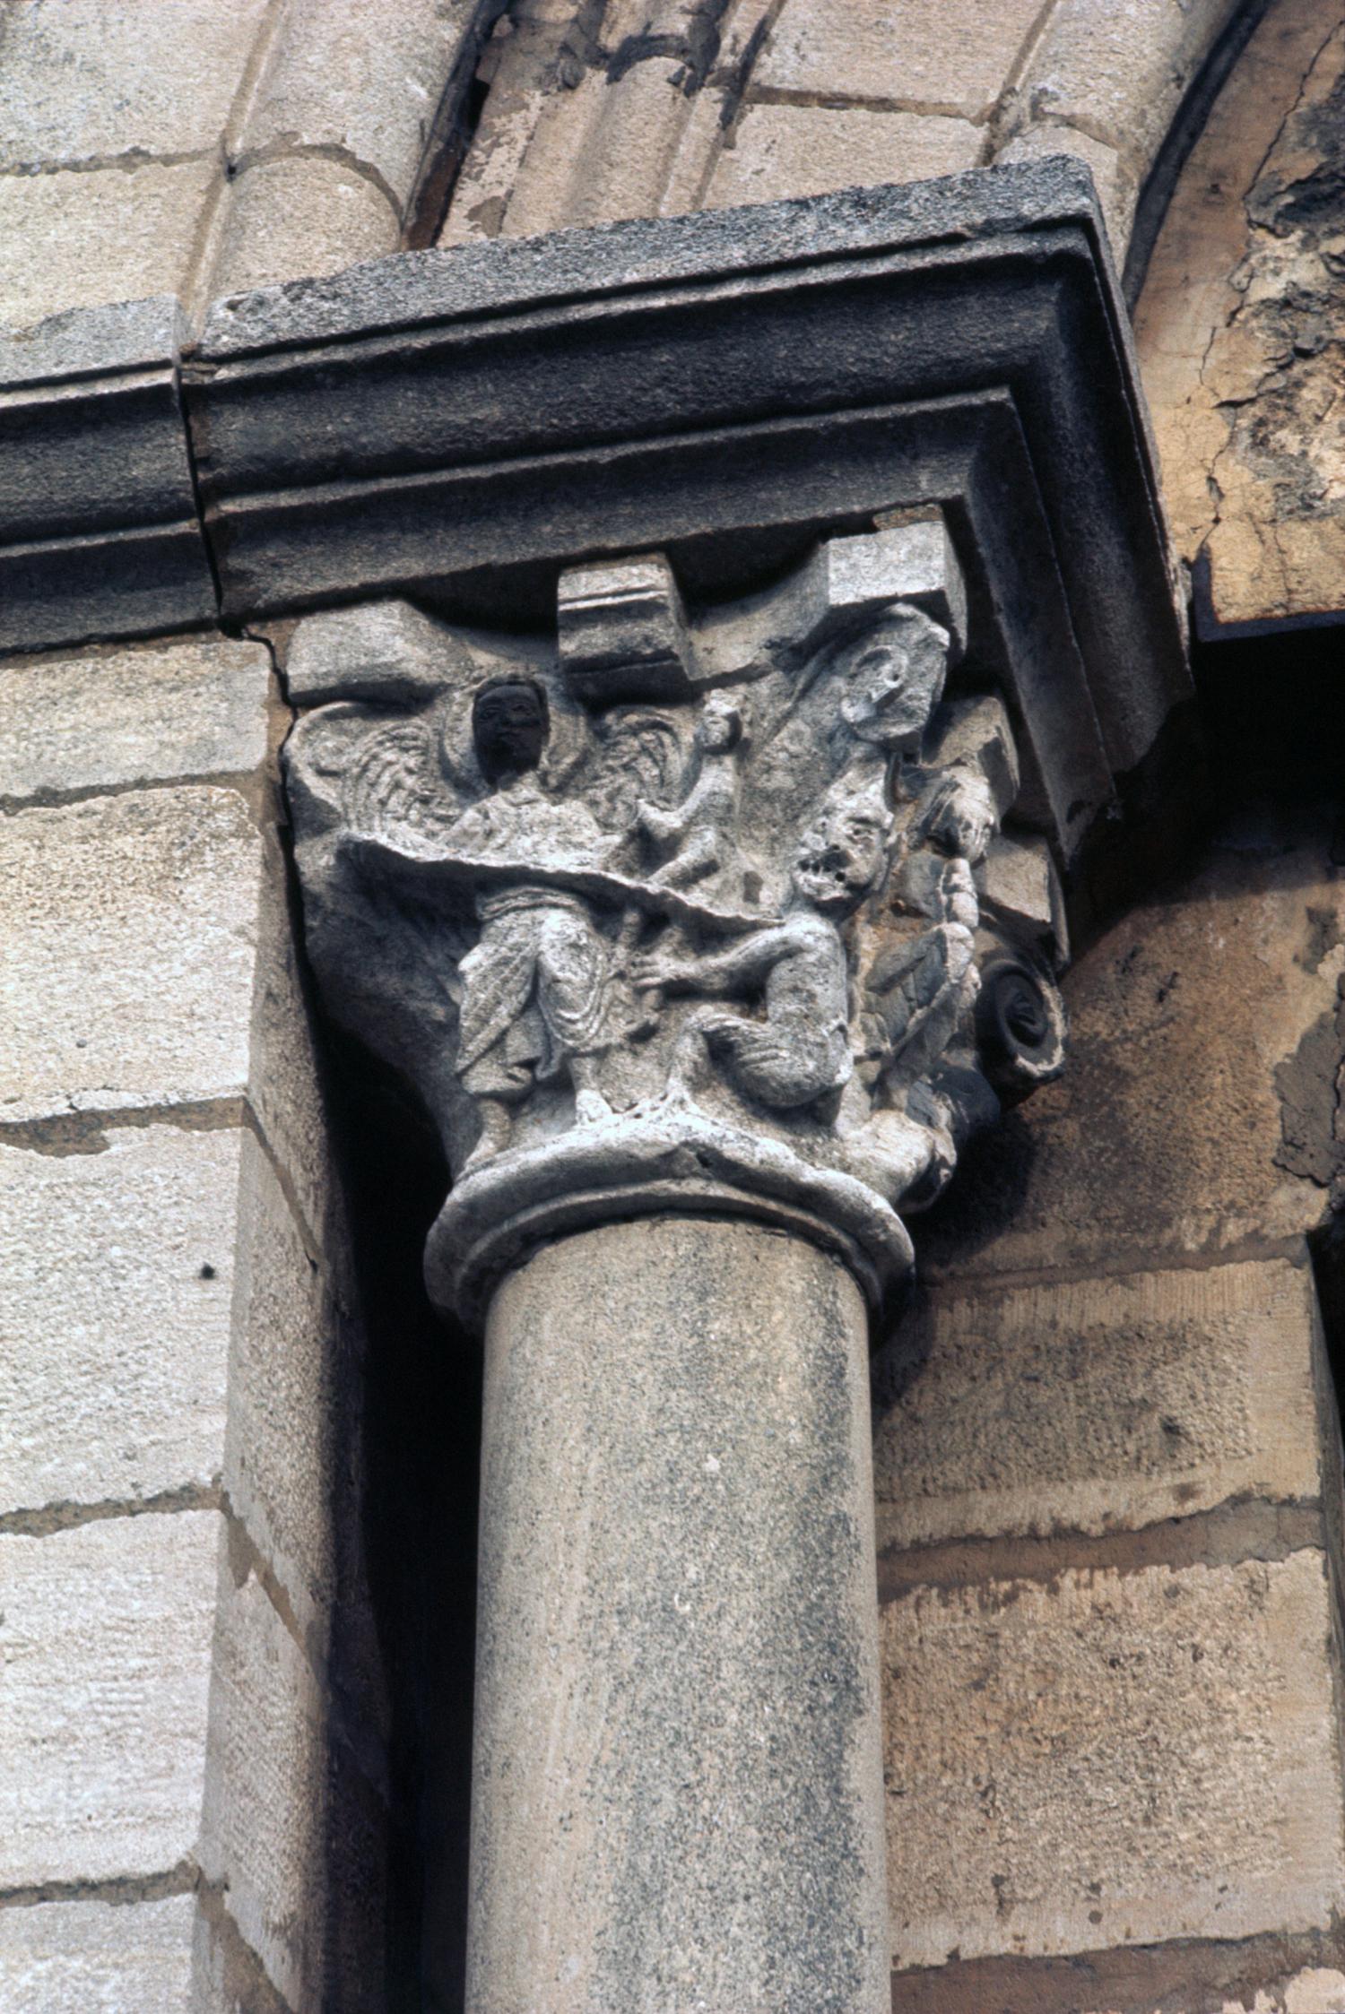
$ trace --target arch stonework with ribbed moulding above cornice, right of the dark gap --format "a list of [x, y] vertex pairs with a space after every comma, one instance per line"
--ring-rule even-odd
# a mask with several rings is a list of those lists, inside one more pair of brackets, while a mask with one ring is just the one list
[[594, 26], [576, 0], [524, 0], [481, 66], [489, 97], [441, 242], [1079, 153], [1119, 260], [1140, 183], [1234, 14], [1236, 0], [626, 0]]

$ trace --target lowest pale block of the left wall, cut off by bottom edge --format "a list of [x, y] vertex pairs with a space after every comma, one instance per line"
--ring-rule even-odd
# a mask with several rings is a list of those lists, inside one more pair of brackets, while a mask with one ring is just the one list
[[0, 1909], [4, 2014], [185, 2014], [195, 1901]]

